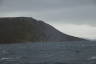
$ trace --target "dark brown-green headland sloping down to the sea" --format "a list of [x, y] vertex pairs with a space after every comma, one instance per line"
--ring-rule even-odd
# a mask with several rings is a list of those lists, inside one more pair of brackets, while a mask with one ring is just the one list
[[0, 18], [0, 43], [63, 42], [84, 39], [69, 36], [31, 17]]

